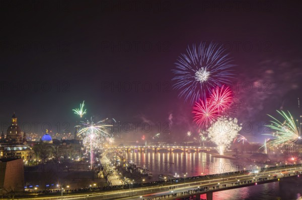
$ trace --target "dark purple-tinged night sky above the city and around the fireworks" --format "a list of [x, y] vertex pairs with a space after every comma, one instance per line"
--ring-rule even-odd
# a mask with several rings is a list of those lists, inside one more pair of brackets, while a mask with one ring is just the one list
[[73, 132], [72, 109], [85, 100], [87, 117], [152, 124], [132, 128], [129, 140], [158, 131], [182, 140], [197, 128], [191, 105], [172, 89], [171, 70], [201, 41], [223, 44], [234, 58], [235, 117], [253, 124], [245, 135], [262, 138], [276, 109], [301, 113], [301, 3], [2, 1], [0, 9], [2, 129], [15, 111], [27, 131], [42, 134], [45, 123], [62, 131], [68, 122]]

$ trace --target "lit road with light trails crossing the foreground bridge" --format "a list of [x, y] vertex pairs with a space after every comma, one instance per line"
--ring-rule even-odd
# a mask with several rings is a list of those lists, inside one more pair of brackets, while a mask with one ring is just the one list
[[[188, 190], [194, 190], [198, 189], [199, 187], [205, 187], [207, 186], [210, 191], [215, 191], [216, 186], [219, 185], [219, 188], [221, 189], [222, 184], [226, 184], [226, 187], [231, 187], [232, 183], [233, 186], [235, 185], [236, 182], [241, 181], [248, 181], [252, 180], [254, 183], [254, 178], [255, 178], [255, 184], [256, 182], [260, 183], [260, 181], [257, 181], [259, 178], [267, 178], [269, 180], [273, 179], [273, 175], [277, 175], [277, 179], [281, 178], [283, 175], [281, 172], [290, 173], [291, 176], [293, 176], [294, 171], [301, 171], [301, 167], [287, 167], [286, 169], [284, 168], [278, 168], [266, 172], [260, 172], [260, 173], [251, 173], [249, 175], [231, 175], [231, 176], [223, 176], [222, 177], [213, 177], [208, 180], [200, 180], [197, 179], [197, 181], [192, 181], [184, 183], [179, 183], [179, 184], [172, 184], [172, 185], [165, 185], [165, 186], [149, 186], [149, 187], [138, 187], [138, 188], [129, 188], [129, 189], [120, 189], [120, 190], [111, 190], [111, 191], [102, 191], [102, 192], [87, 192], [87, 193], [80, 193], [80, 194], [68, 194], [66, 196], [63, 196], [63, 199], [135, 199], [135, 200], [140, 200], [140, 199], [146, 199], [146, 198], [154, 198], [154, 199], [159, 199], [163, 195], [166, 195], [166, 199], [175, 199], [175, 197], [171, 197], [172, 193], [177, 193], [177, 196], [180, 196], [180, 192], [185, 192]], [[255, 176], [254, 176], [255, 175]], [[277, 181], [276, 179], [276, 181]], [[219, 183], [219, 184], [218, 184]], [[213, 189], [212, 187], [215, 187]], [[173, 189], [170, 189], [172, 187]], [[168, 198], [169, 195], [169, 198]], [[142, 196], [140, 198], [140, 196]], [[32, 197], [32, 198], [18, 198], [18, 199], [45, 199], [45, 200], [54, 200], [54, 199], [61, 199], [61, 196], [52, 196], [52, 197], [47, 197], [47, 196], [37, 196], [37, 197]]]

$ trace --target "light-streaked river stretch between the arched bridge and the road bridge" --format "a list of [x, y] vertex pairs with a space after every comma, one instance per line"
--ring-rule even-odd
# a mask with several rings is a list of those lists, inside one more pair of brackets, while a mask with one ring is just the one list
[[[150, 181], [158, 180], [159, 174], [179, 174], [183, 177], [234, 172], [249, 170], [251, 165], [257, 165], [252, 161], [230, 160], [216, 158], [207, 153], [154, 153], [154, 152], [123, 152], [127, 162], [136, 163], [138, 167], [146, 167], [154, 174]], [[253, 167], [253, 166], [252, 166]]]

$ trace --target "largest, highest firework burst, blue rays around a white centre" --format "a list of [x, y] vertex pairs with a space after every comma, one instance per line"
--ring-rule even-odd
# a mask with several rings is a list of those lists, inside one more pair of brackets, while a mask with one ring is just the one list
[[229, 84], [233, 77], [232, 58], [225, 49], [214, 42], [206, 46], [201, 42], [198, 47], [188, 46], [187, 53], [181, 54], [177, 60], [176, 70], [172, 70], [176, 81], [173, 87], [180, 90], [179, 97], [191, 104], [199, 99], [205, 99], [211, 88]]

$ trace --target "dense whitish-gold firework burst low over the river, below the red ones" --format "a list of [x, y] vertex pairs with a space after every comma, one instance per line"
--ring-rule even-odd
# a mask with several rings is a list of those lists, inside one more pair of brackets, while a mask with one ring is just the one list
[[219, 117], [208, 128], [208, 138], [217, 145], [219, 154], [223, 155], [241, 129], [242, 126], [238, 124], [237, 118]]

